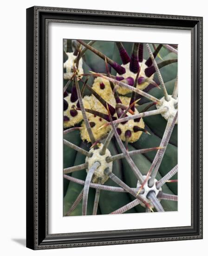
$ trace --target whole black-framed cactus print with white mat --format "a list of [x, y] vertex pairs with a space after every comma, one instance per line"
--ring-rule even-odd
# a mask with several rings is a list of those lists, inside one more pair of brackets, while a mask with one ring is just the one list
[[26, 14], [26, 246], [202, 239], [202, 18]]

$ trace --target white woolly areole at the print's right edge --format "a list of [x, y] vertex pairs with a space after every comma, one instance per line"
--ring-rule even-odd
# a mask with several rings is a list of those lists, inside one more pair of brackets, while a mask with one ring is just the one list
[[[178, 108], [175, 108], [175, 104], [178, 103], [178, 98], [174, 99], [171, 95], [168, 95], [169, 101], [165, 100], [165, 97], [163, 97], [160, 101], [161, 103], [156, 104], [157, 109], [163, 109], [168, 108], [168, 110], [161, 115], [164, 117], [165, 120], [168, 120], [169, 117], [174, 117], [176, 115], [176, 112]], [[176, 124], [178, 123], [178, 119], [176, 120]]]

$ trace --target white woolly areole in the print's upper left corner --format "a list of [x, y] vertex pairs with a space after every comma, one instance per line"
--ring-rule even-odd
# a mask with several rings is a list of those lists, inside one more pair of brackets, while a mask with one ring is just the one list
[[[66, 53], [68, 56], [68, 60], [64, 63], [64, 68], [66, 68], [66, 72], [64, 73], [64, 79], [71, 79], [71, 76], [74, 74], [74, 66], [76, 64], [74, 63], [74, 60], [77, 58], [77, 56], [73, 55], [73, 53]], [[83, 76], [80, 76], [79, 74], [83, 74], [83, 68], [82, 68], [82, 58], [79, 60], [78, 65], [78, 77], [82, 78]]]

